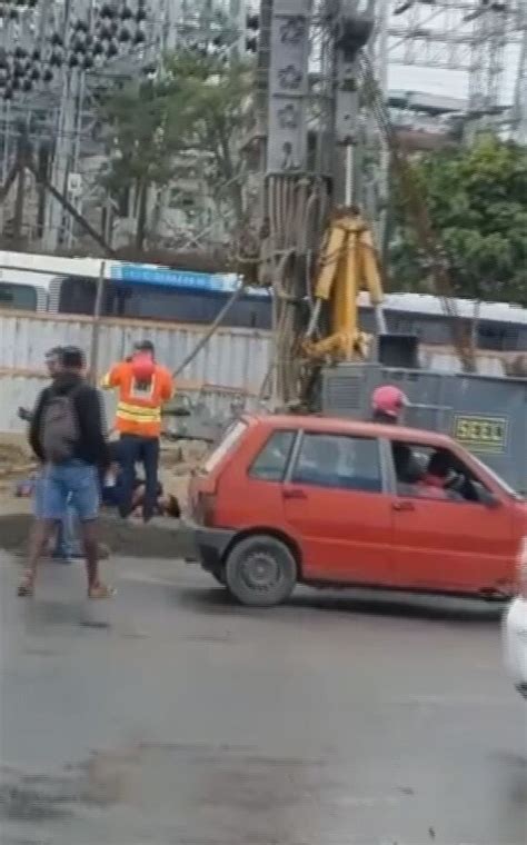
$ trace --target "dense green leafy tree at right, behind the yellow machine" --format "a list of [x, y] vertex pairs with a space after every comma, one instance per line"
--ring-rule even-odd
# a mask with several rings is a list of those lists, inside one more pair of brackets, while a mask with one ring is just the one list
[[[483, 136], [470, 148], [416, 160], [414, 173], [455, 294], [527, 305], [527, 150]], [[404, 198], [395, 193], [392, 278], [405, 289], [430, 291], [426, 256], [405, 221]]]

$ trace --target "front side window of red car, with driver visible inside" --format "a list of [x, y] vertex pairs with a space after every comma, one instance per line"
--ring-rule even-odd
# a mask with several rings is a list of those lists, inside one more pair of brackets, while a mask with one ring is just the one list
[[445, 501], [480, 501], [485, 487], [459, 458], [446, 448], [394, 441], [394, 467], [399, 496]]

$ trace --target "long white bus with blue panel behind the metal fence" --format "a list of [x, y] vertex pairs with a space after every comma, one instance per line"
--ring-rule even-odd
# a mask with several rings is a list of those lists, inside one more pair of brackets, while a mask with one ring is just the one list
[[[0, 250], [0, 309], [49, 310], [92, 315], [99, 258], [56, 258]], [[241, 284], [233, 274], [173, 270], [156, 265], [105, 260], [101, 314], [125, 319], [210, 324]], [[223, 326], [269, 330], [271, 296], [252, 289], [230, 308]], [[456, 299], [456, 312], [470, 324], [477, 317], [477, 347], [518, 354], [527, 350], [527, 309], [505, 302]], [[365, 331], [375, 331], [375, 316], [366, 294], [359, 300]], [[302, 307], [301, 305], [299, 307]], [[304, 306], [307, 309], [307, 304]], [[450, 346], [449, 318], [438, 297], [388, 294], [384, 311], [388, 331], [417, 335], [424, 346]], [[307, 319], [307, 316], [306, 316]]]

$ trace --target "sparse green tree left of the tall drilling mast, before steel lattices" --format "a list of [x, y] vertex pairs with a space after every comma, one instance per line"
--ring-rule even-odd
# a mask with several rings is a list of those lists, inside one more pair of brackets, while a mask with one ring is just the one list
[[146, 238], [148, 189], [170, 183], [177, 155], [183, 151], [201, 159], [212, 193], [227, 196], [236, 222], [241, 221], [237, 143], [249, 90], [245, 63], [185, 48], [167, 57], [159, 81], [129, 86], [106, 101], [103, 118], [112, 127], [115, 155], [103, 183], [116, 197], [125, 188], [136, 189], [137, 248]]

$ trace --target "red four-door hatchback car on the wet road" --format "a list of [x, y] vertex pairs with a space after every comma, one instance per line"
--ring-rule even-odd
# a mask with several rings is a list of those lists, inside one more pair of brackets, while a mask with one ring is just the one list
[[243, 416], [190, 481], [201, 566], [242, 604], [297, 583], [505, 598], [527, 504], [449, 437]]

